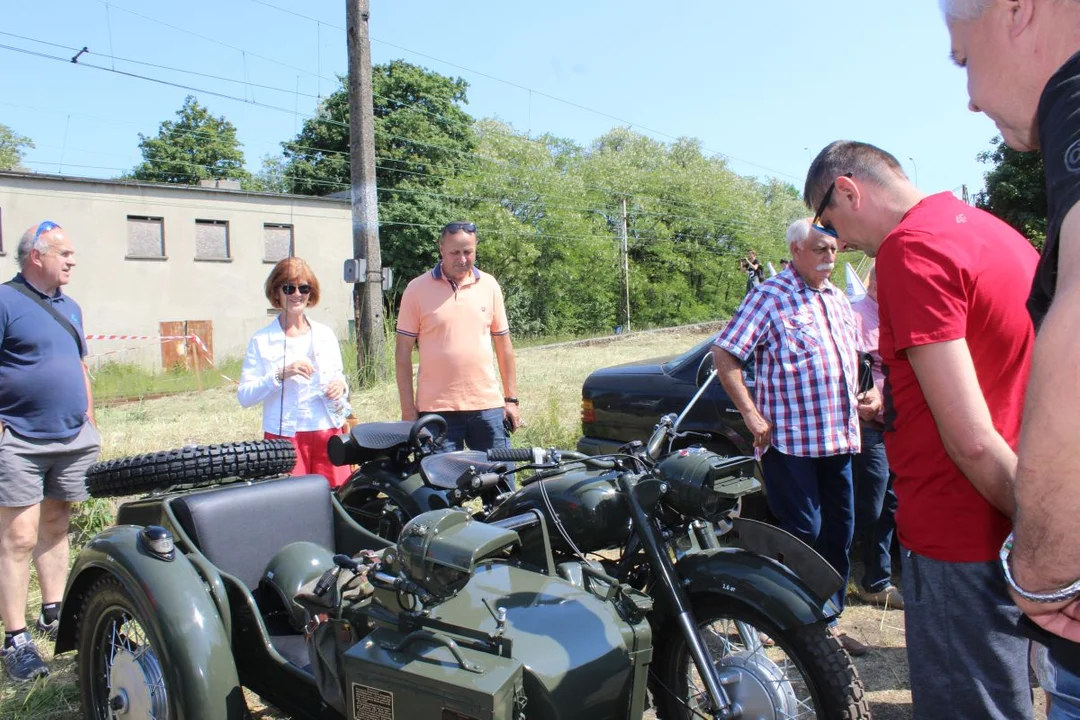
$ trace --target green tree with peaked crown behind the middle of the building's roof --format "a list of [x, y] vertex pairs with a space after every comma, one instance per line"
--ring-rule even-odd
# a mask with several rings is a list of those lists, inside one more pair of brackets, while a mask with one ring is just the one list
[[244, 152], [237, 128], [225, 117], [215, 118], [191, 95], [176, 120], [161, 123], [157, 137], [139, 133], [143, 162], [132, 171], [136, 180], [199, 185], [206, 179], [252, 181], [244, 169]]

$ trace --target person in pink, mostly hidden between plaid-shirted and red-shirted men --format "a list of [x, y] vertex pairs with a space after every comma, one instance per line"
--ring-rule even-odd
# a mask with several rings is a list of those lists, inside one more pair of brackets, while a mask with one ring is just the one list
[[[866, 295], [851, 303], [859, 328], [859, 351], [874, 361], [874, 388], [885, 394], [885, 372], [878, 352], [877, 268], [870, 268]], [[904, 596], [892, 584], [892, 536], [896, 530], [896, 493], [885, 453], [885, 408], [859, 413], [862, 449], [855, 456], [855, 536], [863, 549], [863, 602], [904, 609]]]

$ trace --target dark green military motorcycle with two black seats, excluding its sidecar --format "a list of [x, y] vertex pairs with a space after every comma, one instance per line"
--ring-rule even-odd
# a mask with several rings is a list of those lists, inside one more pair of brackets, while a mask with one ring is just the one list
[[[551, 547], [551, 560], [523, 552], [522, 568], [633, 598], [652, 631], [648, 687], [664, 720], [869, 717], [826, 627], [840, 576], [796, 538], [738, 517], [740, 499], [759, 489], [753, 459], [674, 449], [686, 439], [681, 418], [715, 378], [707, 363], [680, 417], [612, 456], [440, 454], [442, 419], [360, 425], [332, 443], [332, 459], [360, 465], [339, 497], [373, 533], [402, 539], [432, 510], [472, 500], [474, 519], [513, 527], [523, 548]], [[526, 517], [542, 521], [519, 525]]]

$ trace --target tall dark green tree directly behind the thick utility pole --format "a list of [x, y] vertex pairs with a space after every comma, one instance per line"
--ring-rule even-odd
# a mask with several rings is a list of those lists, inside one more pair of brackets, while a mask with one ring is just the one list
[[[472, 117], [463, 109], [469, 84], [394, 60], [372, 68], [376, 182], [382, 264], [399, 283], [437, 258], [435, 233], [460, 219], [461, 203], [446, 181], [470, 163]], [[349, 93], [341, 87], [320, 105], [294, 140], [283, 142], [293, 192], [348, 191]]]

